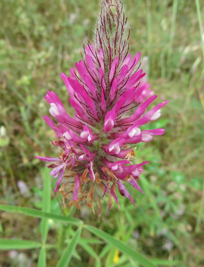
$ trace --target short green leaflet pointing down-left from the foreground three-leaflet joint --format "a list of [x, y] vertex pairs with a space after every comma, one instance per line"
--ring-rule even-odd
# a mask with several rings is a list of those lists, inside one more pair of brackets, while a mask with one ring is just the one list
[[67, 245], [65, 251], [63, 252], [60, 261], [57, 264], [57, 267], [66, 267], [68, 266], [68, 263], [72, 257], [72, 254], [74, 252], [74, 249], [76, 248], [76, 245], [79, 241], [81, 235], [81, 227], [79, 227], [76, 232], [74, 233], [71, 241]]

